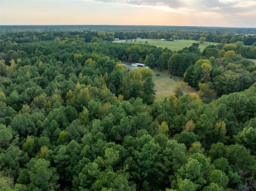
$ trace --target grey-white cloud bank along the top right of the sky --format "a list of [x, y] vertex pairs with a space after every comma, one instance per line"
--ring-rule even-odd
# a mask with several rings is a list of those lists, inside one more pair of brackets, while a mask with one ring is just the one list
[[[188, 14], [217, 13], [242, 14], [256, 10], [256, 0], [92, 0], [112, 4], [129, 4], [135, 6], [150, 6], [164, 8], [170, 12]], [[255, 13], [255, 12], [254, 12]]]

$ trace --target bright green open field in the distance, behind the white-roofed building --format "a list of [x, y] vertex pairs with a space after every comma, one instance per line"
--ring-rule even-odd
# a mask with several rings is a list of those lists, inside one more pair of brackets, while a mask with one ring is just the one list
[[[163, 48], [168, 48], [172, 51], [178, 51], [183, 49], [184, 47], [190, 47], [192, 43], [199, 43], [198, 41], [195, 40], [177, 40], [177, 41], [161, 41], [161, 40], [136, 40], [136, 41], [122, 41], [120, 40], [119, 43], [134, 43], [134, 44], [139, 44], [139, 43], [145, 43], [145, 41], [148, 41], [148, 44], [150, 45], [155, 45], [156, 47], [163, 47]], [[118, 41], [117, 41], [118, 42]], [[205, 47], [208, 45], [216, 45], [218, 43], [213, 43], [213, 42], [206, 42], [205, 44], [200, 44], [199, 49], [201, 51], [204, 50]]]

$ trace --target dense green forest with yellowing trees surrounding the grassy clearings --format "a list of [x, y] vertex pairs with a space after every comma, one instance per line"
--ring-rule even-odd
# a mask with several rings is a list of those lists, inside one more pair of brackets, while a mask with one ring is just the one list
[[[91, 28], [1, 26], [1, 190], [256, 189], [255, 29]], [[220, 44], [112, 43], [142, 35]], [[175, 95], [154, 101], [152, 68]]]

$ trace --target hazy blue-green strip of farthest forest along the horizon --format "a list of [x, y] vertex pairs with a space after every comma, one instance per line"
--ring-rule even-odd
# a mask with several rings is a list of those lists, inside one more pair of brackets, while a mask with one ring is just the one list
[[226, 33], [226, 34], [255, 34], [255, 28], [228, 28], [228, 27], [198, 27], [198, 26], [137, 26], [137, 25], [12, 25], [1, 26], [1, 32], [70, 32], [70, 31], [193, 31], [193, 32], [209, 32]]

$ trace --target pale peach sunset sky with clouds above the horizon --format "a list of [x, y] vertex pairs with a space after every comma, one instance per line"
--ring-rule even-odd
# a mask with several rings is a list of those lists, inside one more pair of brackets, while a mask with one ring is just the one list
[[256, 28], [256, 0], [0, 0], [0, 25]]

